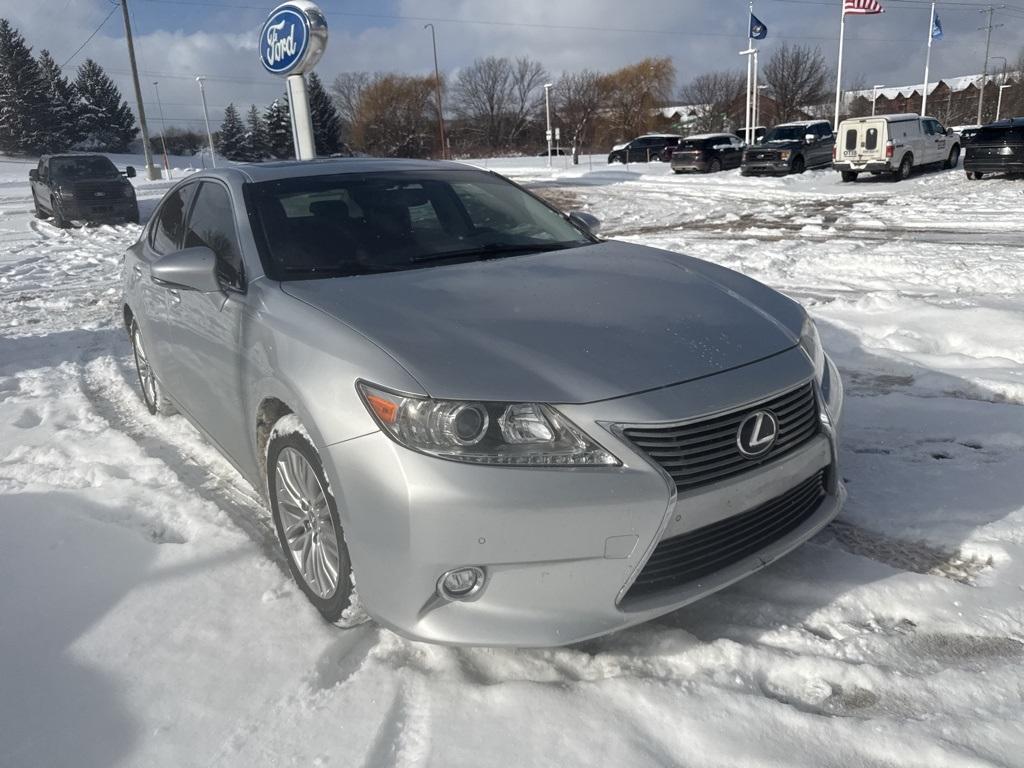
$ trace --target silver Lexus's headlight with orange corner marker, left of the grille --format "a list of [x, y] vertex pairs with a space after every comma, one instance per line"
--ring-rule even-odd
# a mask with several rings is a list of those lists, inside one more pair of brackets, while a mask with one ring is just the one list
[[442, 459], [526, 467], [621, 462], [551, 406], [411, 397], [358, 384], [367, 410], [395, 442]]

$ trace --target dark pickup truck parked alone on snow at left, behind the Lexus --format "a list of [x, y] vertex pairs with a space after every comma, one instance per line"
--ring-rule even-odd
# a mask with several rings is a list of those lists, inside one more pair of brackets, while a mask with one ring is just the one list
[[53, 217], [59, 227], [72, 221], [138, 223], [135, 169], [118, 172], [105, 155], [44, 155], [29, 171], [38, 218]]

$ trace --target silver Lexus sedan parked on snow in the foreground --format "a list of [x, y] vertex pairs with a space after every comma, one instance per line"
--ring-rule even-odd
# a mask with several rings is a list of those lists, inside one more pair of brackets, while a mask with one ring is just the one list
[[142, 397], [265, 495], [301, 590], [418, 640], [571, 643], [797, 547], [843, 385], [791, 299], [456, 163], [241, 165], [129, 249]]

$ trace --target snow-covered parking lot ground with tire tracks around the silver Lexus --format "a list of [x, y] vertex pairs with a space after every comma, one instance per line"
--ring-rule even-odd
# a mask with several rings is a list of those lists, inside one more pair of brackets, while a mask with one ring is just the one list
[[582, 646], [325, 626], [254, 492], [136, 396], [137, 227], [37, 221], [0, 161], [0, 766], [1024, 766], [1024, 183], [479, 164], [805, 302], [840, 519]]

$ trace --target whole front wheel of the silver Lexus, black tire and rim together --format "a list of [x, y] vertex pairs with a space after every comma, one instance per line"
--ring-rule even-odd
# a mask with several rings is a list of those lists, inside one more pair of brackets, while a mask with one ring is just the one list
[[270, 513], [288, 569], [327, 621], [342, 622], [351, 603], [352, 566], [319, 455], [303, 434], [271, 432], [266, 467]]

